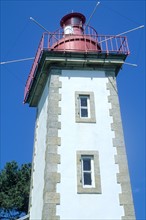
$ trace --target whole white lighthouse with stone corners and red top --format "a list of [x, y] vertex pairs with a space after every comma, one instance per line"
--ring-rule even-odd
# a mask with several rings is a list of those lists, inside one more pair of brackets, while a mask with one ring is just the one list
[[44, 33], [25, 86], [36, 107], [29, 219], [134, 220], [116, 77], [125, 36], [73, 12]]

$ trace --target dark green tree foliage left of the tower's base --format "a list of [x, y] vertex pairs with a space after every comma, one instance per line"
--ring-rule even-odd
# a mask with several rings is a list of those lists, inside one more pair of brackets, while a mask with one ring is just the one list
[[6, 163], [0, 171], [0, 219], [17, 219], [28, 212], [31, 164]]

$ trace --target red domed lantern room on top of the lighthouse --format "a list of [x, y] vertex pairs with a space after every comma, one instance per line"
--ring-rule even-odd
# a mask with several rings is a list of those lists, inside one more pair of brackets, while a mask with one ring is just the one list
[[55, 50], [69, 51], [100, 51], [97, 40], [97, 32], [85, 25], [86, 18], [81, 13], [70, 13], [65, 15], [60, 25], [63, 28], [63, 36], [52, 48]]

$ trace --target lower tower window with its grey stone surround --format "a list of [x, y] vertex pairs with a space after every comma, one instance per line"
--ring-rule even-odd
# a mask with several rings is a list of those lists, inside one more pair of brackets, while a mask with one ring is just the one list
[[98, 151], [77, 151], [77, 192], [101, 193]]

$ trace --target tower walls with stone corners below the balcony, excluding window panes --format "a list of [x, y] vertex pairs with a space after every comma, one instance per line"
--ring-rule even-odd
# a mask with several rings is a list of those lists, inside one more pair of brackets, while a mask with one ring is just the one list
[[[30, 219], [135, 219], [114, 71], [52, 68], [47, 74], [37, 110]], [[90, 121], [78, 118], [78, 94], [92, 96]], [[97, 188], [82, 188], [81, 153], [98, 160]]]

